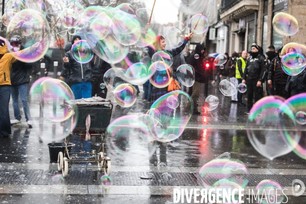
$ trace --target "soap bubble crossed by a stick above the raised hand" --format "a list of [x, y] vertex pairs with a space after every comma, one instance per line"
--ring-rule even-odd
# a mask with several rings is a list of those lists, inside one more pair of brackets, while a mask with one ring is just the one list
[[204, 15], [196, 14], [189, 20], [188, 27], [195, 34], [203, 34], [208, 30], [208, 19]]

